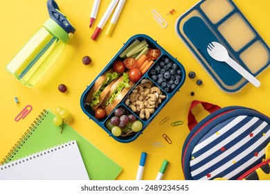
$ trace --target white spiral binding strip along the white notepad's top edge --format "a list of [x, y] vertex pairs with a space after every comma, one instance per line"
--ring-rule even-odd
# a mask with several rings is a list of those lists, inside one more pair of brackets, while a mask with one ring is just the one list
[[33, 155], [30, 155], [30, 156], [27, 156], [27, 157], [23, 157], [21, 159], [17, 159], [16, 161], [10, 162], [9, 164], [0, 166], [0, 170], [5, 170], [6, 168], [10, 168], [12, 166], [15, 166], [15, 165], [18, 165], [18, 164], [22, 164], [22, 163], [24, 163], [26, 161], [30, 161], [30, 160], [35, 159], [37, 157], [42, 157], [43, 155], [47, 155], [47, 154], [49, 154], [51, 152], [55, 152], [57, 150], [60, 150], [61, 148], [64, 148], [64, 147], [66, 147], [68, 145], [71, 145], [71, 144], [75, 144], [75, 141], [69, 141], [67, 143], [63, 143], [61, 145], [57, 145], [57, 146], [55, 146], [53, 148], [48, 148], [48, 149], [43, 150], [41, 152], [37, 152], [37, 153], [35, 153]]

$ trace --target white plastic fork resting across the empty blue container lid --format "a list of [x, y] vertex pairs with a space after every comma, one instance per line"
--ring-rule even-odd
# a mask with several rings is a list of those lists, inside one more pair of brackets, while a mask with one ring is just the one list
[[228, 65], [230, 65], [235, 71], [240, 73], [241, 76], [246, 78], [251, 84], [253, 84], [255, 87], [260, 86], [260, 81], [255, 78], [254, 76], [249, 73], [249, 71], [246, 71], [240, 64], [235, 62], [229, 55], [227, 49], [220, 44], [219, 42], [211, 42], [207, 46], [207, 52], [213, 58], [214, 60], [217, 60], [219, 62], [226, 62]]

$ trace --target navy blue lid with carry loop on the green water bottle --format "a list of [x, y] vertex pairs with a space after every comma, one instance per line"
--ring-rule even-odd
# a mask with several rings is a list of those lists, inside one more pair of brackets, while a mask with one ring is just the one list
[[60, 12], [60, 8], [54, 0], [47, 1], [48, 14], [66, 33], [75, 33], [75, 28], [71, 25], [66, 16]]

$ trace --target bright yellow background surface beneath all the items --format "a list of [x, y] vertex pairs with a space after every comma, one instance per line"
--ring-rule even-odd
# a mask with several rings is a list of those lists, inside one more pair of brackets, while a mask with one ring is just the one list
[[[259, 88], [248, 84], [237, 94], [226, 94], [215, 85], [215, 82], [201, 68], [181, 39], [177, 37], [174, 30], [177, 18], [192, 8], [198, 2], [197, 0], [127, 0], [111, 37], [105, 35], [108, 26], [106, 25], [97, 41], [93, 41], [91, 35], [109, 5], [109, 0], [101, 1], [97, 21], [93, 28], [89, 28], [93, 0], [57, 0], [56, 2], [60, 10], [75, 26], [76, 32], [70, 44], [64, 48], [60, 58], [33, 88], [21, 85], [9, 75], [5, 67], [31, 35], [48, 19], [46, 0], [0, 2], [1, 159], [6, 156], [12, 145], [42, 109], [54, 111], [56, 107], [62, 106], [73, 114], [74, 121], [70, 125], [122, 166], [123, 172], [118, 176], [118, 179], [135, 179], [141, 152], [148, 153], [143, 179], [155, 179], [163, 159], [170, 161], [163, 179], [183, 179], [181, 150], [183, 141], [189, 132], [187, 113], [192, 100], [204, 100], [222, 107], [228, 105], [252, 107], [270, 116], [269, 69], [258, 76], [262, 82]], [[269, 45], [270, 1], [235, 0], [234, 2]], [[176, 12], [172, 15], [166, 15], [172, 8]], [[161, 28], [156, 23], [152, 16], [152, 9], [156, 9], [168, 21], [167, 28]], [[96, 78], [123, 46], [123, 43], [138, 33], [149, 35], [157, 40], [166, 51], [183, 64], [186, 73], [195, 71], [196, 78], [203, 80], [204, 84], [198, 86], [196, 80], [191, 80], [187, 76], [180, 91], [173, 96], [136, 141], [118, 143], [82, 112], [80, 96], [87, 85]], [[91, 65], [82, 64], [84, 55], [89, 55], [92, 58]], [[65, 94], [57, 90], [57, 86], [61, 83], [68, 87], [68, 92]], [[195, 96], [190, 96], [191, 91], [195, 92]], [[15, 103], [15, 96], [19, 99], [19, 106]], [[24, 120], [15, 122], [15, 116], [26, 105], [32, 105], [33, 111]], [[159, 125], [165, 116], [169, 116], [170, 120], [164, 125]], [[174, 121], [183, 121], [183, 125], [172, 127], [170, 123]], [[162, 134], [164, 133], [170, 137], [172, 144], [168, 144], [163, 139]], [[165, 147], [153, 147], [152, 143], [156, 141], [164, 143]]]

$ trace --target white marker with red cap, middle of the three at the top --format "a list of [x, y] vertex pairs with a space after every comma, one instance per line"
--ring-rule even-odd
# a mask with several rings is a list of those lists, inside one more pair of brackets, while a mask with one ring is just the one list
[[100, 23], [96, 27], [96, 30], [93, 32], [93, 35], [91, 36], [91, 39], [96, 40], [98, 38], [98, 35], [100, 34], [102, 28], [105, 26], [107, 20], [109, 19], [109, 16], [111, 15], [111, 12], [113, 12], [114, 8], [116, 7], [116, 4], [118, 3], [118, 0], [112, 0], [109, 4], [109, 7], [107, 8], [105, 14], [100, 20]]

